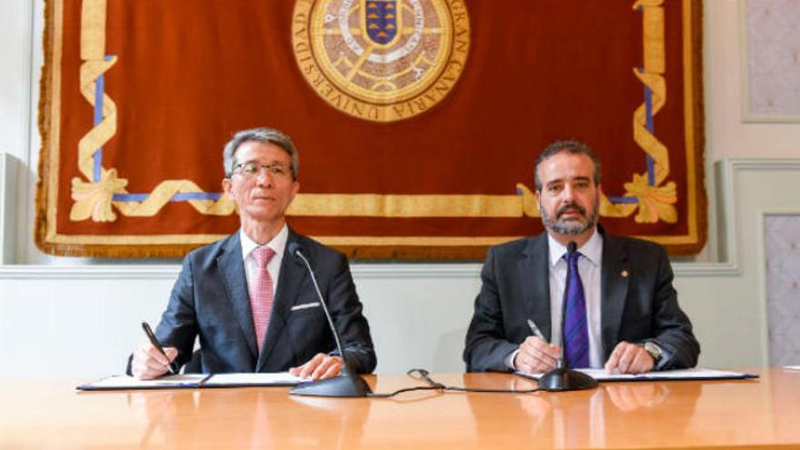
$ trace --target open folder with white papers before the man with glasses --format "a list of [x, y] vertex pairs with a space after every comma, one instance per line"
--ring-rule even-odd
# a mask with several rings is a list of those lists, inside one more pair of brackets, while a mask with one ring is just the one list
[[198, 387], [291, 386], [308, 381], [288, 372], [270, 374], [192, 374], [167, 375], [155, 380], [140, 380], [129, 375], [112, 375], [85, 385], [82, 391], [115, 391], [125, 389], [182, 389]]

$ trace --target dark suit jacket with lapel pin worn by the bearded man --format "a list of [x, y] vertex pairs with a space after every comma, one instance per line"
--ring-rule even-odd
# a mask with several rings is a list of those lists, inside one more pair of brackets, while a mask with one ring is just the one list
[[[604, 239], [600, 281], [604, 359], [621, 341], [650, 340], [671, 355], [659, 368], [695, 366], [700, 345], [678, 306], [664, 247], [600, 232]], [[543, 233], [489, 249], [481, 272], [483, 286], [466, 334], [467, 371], [507, 371], [505, 357], [531, 334], [528, 318], [545, 337], [552, 336], [548, 247]]]

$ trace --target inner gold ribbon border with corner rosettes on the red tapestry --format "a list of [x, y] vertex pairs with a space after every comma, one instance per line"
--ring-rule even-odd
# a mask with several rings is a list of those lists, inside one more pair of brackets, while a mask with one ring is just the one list
[[[666, 146], [648, 129], [648, 114], [653, 117], [666, 101], [665, 84], [665, 15], [664, 0], [637, 0], [635, 10], [643, 13], [644, 66], [634, 69], [635, 77], [652, 95], [649, 106], [639, 105], [633, 114], [636, 145], [652, 158], [652, 174], [634, 174], [625, 183], [625, 197], [635, 203], [615, 202], [601, 195], [600, 214], [607, 217], [635, 216], [637, 223], [677, 221], [675, 182], [665, 183], [669, 175], [669, 153]], [[96, 80], [105, 74], [117, 59], [105, 55], [106, 0], [83, 0], [81, 16], [80, 90], [85, 100], [96, 107]], [[176, 194], [200, 194], [202, 189], [190, 180], [165, 180], [149, 193], [144, 201], [118, 200], [114, 195], [127, 195], [127, 179], [117, 176], [115, 168], [99, 167], [95, 181], [95, 151], [116, 133], [116, 105], [102, 94], [102, 118], [78, 143], [78, 169], [85, 179], [72, 179], [70, 220], [91, 219], [114, 222], [117, 215], [149, 217], [170, 202]], [[379, 194], [299, 194], [289, 207], [289, 215], [380, 216], [380, 217], [521, 217], [539, 216], [534, 192], [524, 184], [516, 184], [517, 195], [379, 195]], [[230, 215], [235, 203], [222, 195], [218, 200], [188, 199], [197, 212], [204, 215]]]

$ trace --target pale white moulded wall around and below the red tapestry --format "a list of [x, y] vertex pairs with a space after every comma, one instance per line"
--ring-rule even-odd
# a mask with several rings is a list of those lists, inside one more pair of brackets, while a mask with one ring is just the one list
[[[800, 196], [793, 195], [800, 192], [800, 160], [789, 159], [800, 157], [800, 125], [741, 122], [738, 7], [735, 0], [708, 0], [705, 11], [715, 248], [675, 264], [680, 301], [703, 346], [701, 364], [709, 366], [766, 364], [760, 224], [767, 213], [800, 214]], [[137, 324], [157, 322], [178, 266], [93, 264], [35, 250], [30, 205], [39, 146], [41, 10], [40, 1], [0, 4], [0, 153], [20, 161], [18, 180], [6, 186], [17, 199], [13, 219], [5, 232], [0, 228], [5, 242], [15, 245], [17, 263], [0, 265], [0, 377], [88, 379], [122, 369], [127, 352], [142, 340]], [[747, 159], [723, 159], [729, 156]], [[476, 264], [354, 265], [379, 372], [463, 370], [460, 352], [478, 271]]]

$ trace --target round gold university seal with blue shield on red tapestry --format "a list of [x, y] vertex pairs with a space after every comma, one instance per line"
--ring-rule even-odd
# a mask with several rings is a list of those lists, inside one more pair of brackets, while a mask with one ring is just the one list
[[392, 122], [453, 89], [469, 52], [464, 0], [296, 0], [295, 59], [325, 102]]

